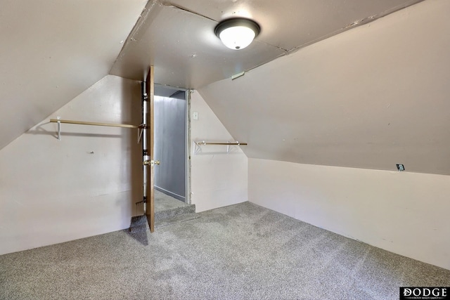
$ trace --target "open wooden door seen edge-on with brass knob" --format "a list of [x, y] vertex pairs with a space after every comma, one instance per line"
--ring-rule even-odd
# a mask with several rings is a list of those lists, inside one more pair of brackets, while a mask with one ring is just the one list
[[[160, 162], [158, 160], [155, 160], [155, 157], [153, 157], [154, 149], [153, 145], [155, 143], [155, 83], [153, 79], [153, 65], [150, 66], [150, 70], [148, 70], [147, 80], [146, 80], [146, 93], [148, 95], [148, 103], [146, 105], [146, 113], [147, 114], [147, 122], [146, 122], [146, 149], [148, 151], [148, 157], [147, 160], [147, 168], [146, 172], [144, 172], [144, 176], [146, 176], [147, 184], [144, 187], [144, 194], [147, 195], [147, 203], [146, 203], [146, 209], [144, 209], [147, 221], [148, 221], [148, 227], [150, 227], [150, 233], [153, 233], [155, 231], [155, 190], [153, 188], [154, 186], [154, 180], [153, 180], [153, 174], [154, 174], [154, 168], [155, 164], [158, 165]], [[144, 151], [145, 155], [145, 151]], [[146, 162], [144, 161], [144, 165]]]

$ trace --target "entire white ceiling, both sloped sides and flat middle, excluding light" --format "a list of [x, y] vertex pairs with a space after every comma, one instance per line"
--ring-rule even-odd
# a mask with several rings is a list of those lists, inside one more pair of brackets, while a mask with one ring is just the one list
[[[108, 72], [155, 65], [249, 157], [450, 174], [450, 7], [417, 2], [0, 0], [0, 149]], [[214, 35], [235, 16], [262, 28], [241, 51]]]

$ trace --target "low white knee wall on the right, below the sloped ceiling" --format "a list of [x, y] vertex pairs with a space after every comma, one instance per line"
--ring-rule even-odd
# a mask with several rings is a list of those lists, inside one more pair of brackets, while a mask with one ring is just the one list
[[450, 176], [249, 159], [249, 200], [450, 270]]

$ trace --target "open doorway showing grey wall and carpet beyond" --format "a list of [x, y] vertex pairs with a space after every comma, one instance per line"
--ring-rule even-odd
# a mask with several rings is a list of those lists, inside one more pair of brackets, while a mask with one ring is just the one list
[[[188, 91], [155, 84], [155, 214], [190, 204]], [[157, 216], [155, 216], [157, 218]]]

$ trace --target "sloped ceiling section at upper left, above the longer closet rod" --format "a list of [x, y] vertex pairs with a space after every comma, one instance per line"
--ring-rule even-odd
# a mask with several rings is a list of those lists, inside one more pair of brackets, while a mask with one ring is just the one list
[[103, 78], [146, 0], [0, 0], [0, 149]]

